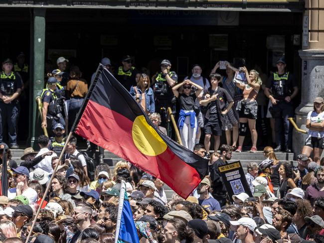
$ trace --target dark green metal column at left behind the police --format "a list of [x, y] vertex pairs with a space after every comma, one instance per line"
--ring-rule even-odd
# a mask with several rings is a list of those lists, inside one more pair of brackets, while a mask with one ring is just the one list
[[32, 73], [30, 77], [30, 127], [29, 141], [33, 147], [35, 139], [41, 133], [41, 121], [36, 105], [36, 97], [41, 95], [44, 88], [44, 65], [45, 65], [45, 8], [34, 8], [31, 22], [31, 56]]

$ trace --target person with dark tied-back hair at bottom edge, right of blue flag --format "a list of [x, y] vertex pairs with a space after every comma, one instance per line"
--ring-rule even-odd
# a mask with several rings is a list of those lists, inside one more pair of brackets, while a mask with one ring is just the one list
[[167, 222], [162, 231], [163, 243], [192, 243], [194, 232], [180, 220], [173, 218]]

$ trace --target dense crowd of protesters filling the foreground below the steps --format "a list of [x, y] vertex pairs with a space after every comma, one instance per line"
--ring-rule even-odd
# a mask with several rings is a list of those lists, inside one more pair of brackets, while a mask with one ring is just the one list
[[[141, 243], [324, 243], [324, 166], [305, 154], [292, 167], [266, 147], [263, 161], [247, 164], [248, 188], [230, 198], [218, 167], [231, 159], [233, 148], [223, 144], [211, 154], [209, 173], [184, 200], [175, 193], [167, 198], [159, 178], [127, 161], [112, 171], [99, 163], [91, 180], [75, 155], [75, 137], [61, 161], [48, 149], [48, 137], [37, 142], [40, 151], [26, 148], [19, 166], [0, 144], [0, 154], [8, 154], [9, 187], [7, 197], [0, 196], [0, 242], [25, 243], [35, 220], [29, 242], [114, 243], [125, 181]], [[205, 156], [203, 144], [193, 151]]]

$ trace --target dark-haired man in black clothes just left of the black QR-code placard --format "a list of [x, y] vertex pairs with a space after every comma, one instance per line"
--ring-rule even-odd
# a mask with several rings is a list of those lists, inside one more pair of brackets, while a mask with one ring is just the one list
[[226, 203], [227, 191], [218, 167], [227, 164], [227, 160], [232, 158], [232, 151], [233, 148], [230, 145], [223, 144], [220, 147], [221, 155], [219, 159], [210, 166], [210, 179], [213, 188], [212, 196], [219, 202], [221, 207]]

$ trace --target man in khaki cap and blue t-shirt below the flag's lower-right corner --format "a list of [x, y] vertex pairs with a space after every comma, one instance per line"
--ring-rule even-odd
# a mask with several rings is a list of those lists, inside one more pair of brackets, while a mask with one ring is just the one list
[[219, 202], [209, 196], [210, 181], [208, 178], [203, 178], [197, 188], [197, 193], [199, 194], [198, 202], [199, 205], [207, 209], [209, 212], [221, 211]]

